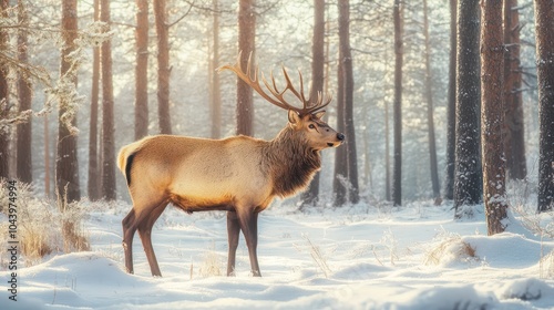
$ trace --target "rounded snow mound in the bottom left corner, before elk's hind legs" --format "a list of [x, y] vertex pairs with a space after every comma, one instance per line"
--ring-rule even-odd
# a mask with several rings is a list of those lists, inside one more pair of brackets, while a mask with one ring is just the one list
[[[0, 309], [14, 309], [14, 306], [22, 307], [16, 309], [41, 309], [32, 306], [33, 299], [49, 306], [100, 307], [105, 304], [106, 298], [121, 301], [127, 293], [135, 296], [143, 291], [147, 296], [155, 291], [155, 279], [129, 275], [115, 261], [95, 252], [55, 256], [41, 265], [21, 269], [18, 277], [21, 302], [12, 303], [2, 298]], [[30, 293], [32, 297], [28, 298]]]

